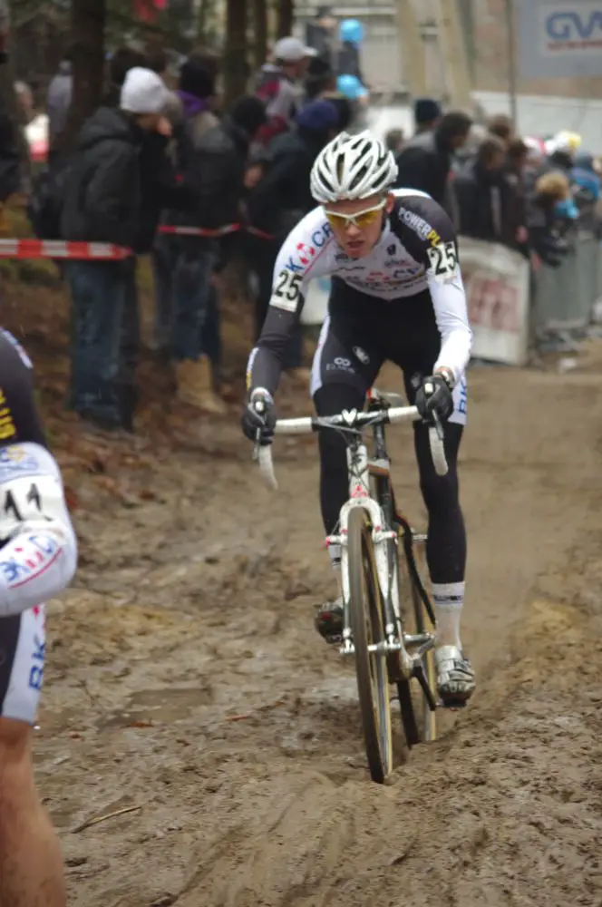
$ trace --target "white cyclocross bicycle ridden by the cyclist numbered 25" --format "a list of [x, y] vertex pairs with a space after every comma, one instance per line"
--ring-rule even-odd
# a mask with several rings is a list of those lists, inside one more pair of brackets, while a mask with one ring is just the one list
[[[392, 406], [393, 399], [401, 398], [373, 389], [365, 410], [279, 419], [276, 424], [276, 434], [337, 431], [347, 444], [349, 500], [341, 508], [338, 533], [328, 536], [326, 544], [341, 546], [345, 619], [340, 651], [355, 658], [366, 755], [378, 784], [393, 770], [392, 685], [408, 746], [433, 740], [436, 733], [435, 619], [415, 553], [426, 536], [413, 532], [396, 507], [384, 434], [386, 424], [415, 422], [421, 416], [415, 406]], [[364, 442], [366, 428], [372, 429], [372, 453]], [[429, 434], [435, 470], [444, 475], [438, 420]], [[277, 488], [271, 446], [256, 444], [254, 456]]]

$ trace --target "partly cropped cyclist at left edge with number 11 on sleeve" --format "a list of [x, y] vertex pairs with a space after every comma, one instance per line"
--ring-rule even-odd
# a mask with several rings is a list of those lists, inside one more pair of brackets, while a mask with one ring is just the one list
[[73, 577], [77, 545], [44, 440], [32, 368], [0, 329], [0, 904], [64, 907], [58, 838], [34, 785], [44, 602]]

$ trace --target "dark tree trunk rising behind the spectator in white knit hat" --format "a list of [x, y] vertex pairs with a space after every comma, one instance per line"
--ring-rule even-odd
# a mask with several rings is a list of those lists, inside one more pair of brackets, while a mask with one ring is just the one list
[[73, 0], [73, 98], [60, 151], [73, 147], [84, 120], [102, 101], [106, 0]]

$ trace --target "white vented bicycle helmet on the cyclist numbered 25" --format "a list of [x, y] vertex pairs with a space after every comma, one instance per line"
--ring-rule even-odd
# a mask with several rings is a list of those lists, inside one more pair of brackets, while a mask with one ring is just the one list
[[318, 154], [311, 173], [316, 201], [365, 199], [393, 185], [397, 164], [392, 151], [365, 130], [341, 132]]

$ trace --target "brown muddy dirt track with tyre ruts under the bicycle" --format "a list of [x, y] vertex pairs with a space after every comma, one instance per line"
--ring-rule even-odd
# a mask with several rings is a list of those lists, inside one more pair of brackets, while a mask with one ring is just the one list
[[[81, 566], [51, 605], [36, 752], [73, 907], [602, 903], [600, 348], [568, 375], [471, 372], [479, 689], [390, 785], [312, 626], [332, 588], [315, 441], [277, 445], [274, 494], [237, 422], [179, 451], [112, 444], [83, 481], [60, 453]], [[420, 523], [410, 436], [391, 444]]]

